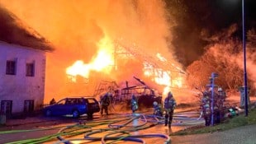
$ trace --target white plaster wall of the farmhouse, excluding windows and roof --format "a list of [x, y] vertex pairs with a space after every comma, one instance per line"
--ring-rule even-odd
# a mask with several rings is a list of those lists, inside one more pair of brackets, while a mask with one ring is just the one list
[[[7, 75], [7, 60], [14, 58], [16, 75]], [[35, 77], [26, 77], [26, 63], [31, 62], [35, 62]], [[43, 105], [45, 63], [45, 51], [0, 41], [0, 101], [12, 100], [12, 114], [23, 112], [24, 100], [34, 100], [34, 109]]]

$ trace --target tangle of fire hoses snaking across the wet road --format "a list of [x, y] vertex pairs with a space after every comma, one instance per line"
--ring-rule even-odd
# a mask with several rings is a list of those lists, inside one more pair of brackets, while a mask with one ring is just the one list
[[[59, 142], [55, 143], [72, 143], [73, 141], [85, 141], [85, 142], [102, 142], [102, 144], [107, 143], [106, 141], [130, 141], [130, 142], [140, 142], [145, 143], [142, 138], [146, 137], [161, 137], [165, 139], [164, 143], [169, 143], [170, 138], [168, 135], [161, 133], [149, 133], [149, 134], [141, 134], [141, 135], [131, 135], [130, 132], [140, 131], [142, 129], [151, 128], [159, 123], [163, 122], [163, 117], [155, 116], [155, 115], [145, 115], [145, 114], [118, 114], [118, 117], [111, 118], [111, 120], [93, 120], [88, 121], [85, 124], [75, 123], [73, 125], [66, 125], [60, 127], [53, 128], [36, 128], [31, 130], [15, 130], [15, 131], [3, 131], [0, 134], [8, 134], [14, 132], [33, 132], [33, 131], [42, 131], [42, 130], [50, 130], [60, 128], [59, 131], [55, 134], [51, 134], [45, 137], [22, 140], [18, 142], [10, 142], [10, 144], [14, 143], [42, 143], [49, 142], [55, 139], [56, 137], [59, 139]], [[186, 118], [186, 117], [178, 117], [174, 118], [176, 120], [183, 120], [183, 123], [173, 123], [173, 125], [189, 125], [189, 124], [199, 124], [196, 118]], [[135, 125], [132, 123], [133, 121], [138, 120], [140, 123]], [[184, 122], [184, 121], [189, 122]], [[107, 125], [107, 128], [97, 128], [97, 126]], [[104, 137], [92, 137], [93, 134], [101, 133], [101, 132], [109, 132]], [[74, 137], [84, 134], [83, 138], [67, 138]], [[118, 135], [113, 136], [113, 135]], [[112, 136], [112, 137], [111, 137]], [[112, 143], [111, 142], [111, 143]]]

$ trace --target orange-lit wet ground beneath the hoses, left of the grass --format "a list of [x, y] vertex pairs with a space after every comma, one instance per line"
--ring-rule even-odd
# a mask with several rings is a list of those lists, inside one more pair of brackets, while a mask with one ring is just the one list
[[[186, 116], [187, 115], [187, 116]], [[189, 118], [189, 117], [193, 118]], [[78, 138], [79, 141], [74, 141], [73, 143], [81, 143], [81, 142], [88, 142], [88, 143], [99, 143], [96, 141], [102, 137], [107, 137], [107, 134], [113, 133], [111, 137], [121, 137], [121, 136], [130, 136], [131, 140], [136, 141], [145, 141], [145, 142], [159, 142], [164, 143], [168, 140], [168, 134], [170, 132], [177, 132], [183, 128], [189, 127], [190, 124], [201, 124], [202, 120], [197, 120], [194, 116], [198, 116], [198, 114], [175, 114], [173, 120], [172, 128], [164, 127], [163, 118], [154, 118], [150, 114], [110, 114], [106, 116], [95, 115], [93, 121], [87, 121], [85, 118], [79, 118], [74, 120], [73, 118], [64, 119], [64, 122], [61, 123], [59, 120], [44, 122], [44, 124], [40, 123], [40, 126], [36, 126], [33, 124], [23, 125], [23, 126], [16, 126], [16, 128], [12, 128], [11, 132], [14, 132], [13, 129], [34, 129], [40, 128], [40, 131], [32, 131], [32, 132], [17, 132], [11, 134], [1, 134], [1, 143], [5, 142], [17, 142], [21, 140], [29, 140], [31, 138], [40, 138], [42, 140], [47, 139], [48, 136], [50, 137], [51, 134], [56, 134], [53, 136], [54, 138], [51, 140], [47, 140], [43, 143], [55, 143], [59, 142], [56, 138], [58, 133], [62, 133], [62, 136], [59, 139], [68, 140], [73, 138]], [[77, 122], [75, 122], [77, 121]], [[80, 122], [80, 124], [78, 124]], [[31, 127], [34, 128], [31, 128]], [[78, 132], [82, 132], [79, 134]], [[95, 132], [94, 134], [90, 135], [90, 132]], [[72, 137], [66, 137], [65, 135], [68, 134], [69, 136], [74, 135]], [[2, 138], [8, 136], [9, 138]], [[87, 136], [87, 137], [86, 137]], [[84, 138], [86, 137], [86, 138]], [[136, 137], [136, 138], [135, 138]], [[152, 138], [146, 138], [152, 137]], [[82, 141], [83, 139], [83, 141]], [[88, 141], [85, 139], [93, 139], [93, 141]], [[116, 138], [115, 138], [116, 139]], [[130, 141], [131, 141], [130, 140]], [[130, 141], [126, 143], [130, 143]], [[23, 141], [24, 142], [24, 141]], [[27, 142], [27, 141], [26, 141]], [[26, 143], [24, 142], [24, 143]], [[31, 142], [31, 140], [29, 141]], [[22, 143], [18, 142], [18, 143]], [[123, 142], [122, 142], [123, 143]], [[137, 143], [137, 142], [136, 142]]]

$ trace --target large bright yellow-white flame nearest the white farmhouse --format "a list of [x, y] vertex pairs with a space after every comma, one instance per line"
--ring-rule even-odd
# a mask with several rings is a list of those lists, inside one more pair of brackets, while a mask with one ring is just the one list
[[112, 55], [113, 44], [111, 43], [111, 40], [106, 36], [99, 41], [97, 46], [99, 48], [97, 56], [92, 58], [90, 63], [83, 63], [83, 60], [77, 60], [72, 66], [67, 67], [66, 73], [71, 81], [77, 81], [77, 76], [88, 79], [90, 71], [106, 73], [111, 71], [111, 66], [114, 65], [114, 58]]

